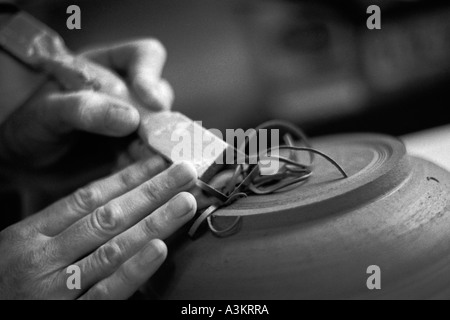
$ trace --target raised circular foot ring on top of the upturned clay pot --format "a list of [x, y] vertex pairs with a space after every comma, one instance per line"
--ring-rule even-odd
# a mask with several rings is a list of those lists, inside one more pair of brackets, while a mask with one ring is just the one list
[[395, 188], [411, 171], [403, 143], [391, 137], [342, 135], [321, 138], [313, 145], [335, 159], [349, 178], [343, 179], [329, 162], [316, 157], [314, 175], [305, 184], [290, 191], [242, 199], [217, 215], [246, 216], [293, 209], [296, 213], [305, 209], [328, 211], [327, 205], [333, 211], [350, 208]]

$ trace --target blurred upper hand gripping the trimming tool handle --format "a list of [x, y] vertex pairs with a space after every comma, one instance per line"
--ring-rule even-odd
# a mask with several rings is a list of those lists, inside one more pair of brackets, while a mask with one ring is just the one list
[[[66, 153], [76, 132], [110, 137], [133, 133], [140, 117], [127, 99], [130, 92], [148, 109], [172, 104], [171, 87], [161, 79], [165, 58], [159, 42], [144, 40], [91, 50], [73, 60], [50, 61], [49, 69], [60, 83], [49, 81], [1, 125], [0, 158], [49, 165]], [[63, 90], [64, 80], [82, 82], [76, 77], [79, 68], [92, 80], [89, 86]]]

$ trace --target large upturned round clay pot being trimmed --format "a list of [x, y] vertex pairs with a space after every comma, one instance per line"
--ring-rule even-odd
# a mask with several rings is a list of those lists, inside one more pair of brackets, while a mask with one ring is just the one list
[[[450, 298], [450, 173], [386, 136], [314, 146], [350, 177], [318, 159], [306, 184], [217, 212], [217, 224], [243, 217], [236, 234], [206, 230], [192, 240], [182, 230], [152, 291], [163, 299]], [[372, 265], [381, 290], [367, 287]]]

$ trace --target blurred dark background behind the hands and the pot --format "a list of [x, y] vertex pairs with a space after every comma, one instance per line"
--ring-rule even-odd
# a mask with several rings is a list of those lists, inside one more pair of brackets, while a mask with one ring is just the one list
[[[448, 1], [22, 1], [74, 50], [155, 37], [168, 49], [175, 109], [206, 127], [281, 118], [310, 135], [403, 135], [446, 124]], [[82, 30], [66, 28], [66, 8]], [[366, 9], [382, 10], [368, 30]]]

